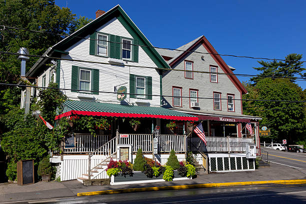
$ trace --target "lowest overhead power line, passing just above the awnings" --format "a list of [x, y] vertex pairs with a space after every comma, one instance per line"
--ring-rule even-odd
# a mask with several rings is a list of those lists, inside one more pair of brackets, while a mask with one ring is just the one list
[[[32, 88], [49, 88], [49, 89], [57, 89], [57, 90], [74, 90], [74, 91], [86, 91], [81, 89], [72, 89], [72, 88], [54, 88], [54, 87], [43, 87], [43, 86], [33, 86], [33, 85], [21, 85], [21, 84], [12, 84], [12, 83], [0, 83], [0, 85], [7, 86], [22, 86], [22, 87], [32, 87]], [[99, 93], [115, 93], [113, 91], [102, 91], [102, 90], [90, 90], [88, 92], [99, 92]], [[213, 98], [213, 97], [190, 97], [190, 96], [173, 96], [173, 95], [160, 95], [160, 94], [139, 94], [139, 93], [125, 93], [127, 95], [143, 95], [143, 96], [163, 96], [163, 97], [178, 97], [178, 98], [198, 98], [198, 99], [220, 99], [220, 100], [228, 100], [227, 98]], [[306, 100], [261, 100], [261, 99], [237, 99], [234, 98], [232, 100], [245, 100], [245, 101], [284, 101], [284, 102], [306, 102]]]

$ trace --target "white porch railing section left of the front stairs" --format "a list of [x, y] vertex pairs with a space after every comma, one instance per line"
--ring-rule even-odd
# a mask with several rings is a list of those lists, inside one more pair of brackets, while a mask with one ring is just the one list
[[64, 149], [67, 152], [92, 152], [108, 141], [109, 135], [75, 134], [75, 148]]

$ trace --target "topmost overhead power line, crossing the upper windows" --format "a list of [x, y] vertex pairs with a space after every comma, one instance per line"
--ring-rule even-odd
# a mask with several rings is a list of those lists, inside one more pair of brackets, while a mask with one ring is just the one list
[[[22, 29], [25, 31], [31, 31], [31, 32], [39, 32], [39, 33], [47, 33], [47, 34], [54, 34], [54, 35], [59, 35], [59, 36], [71, 36], [71, 37], [76, 37], [80, 39], [90, 39], [88, 37], [80, 37], [76, 35], [69, 35], [69, 34], [58, 34], [58, 33], [53, 33], [53, 32], [47, 32], [47, 31], [38, 31], [38, 30], [31, 30], [31, 29], [26, 29], [26, 28], [19, 28], [19, 27], [11, 27], [7, 25], [0, 25], [4, 29], [5, 28], [11, 28], [11, 29]], [[99, 39], [90, 39], [90, 40], [99, 40]], [[114, 42], [114, 41], [109, 41], [109, 40], [100, 40], [100, 41], [106, 41], [106, 42], [112, 42], [112, 43], [123, 43], [123, 42]], [[218, 54], [218, 53], [211, 53], [211, 52], [200, 52], [200, 51], [190, 51], [190, 50], [181, 50], [181, 49], [173, 49], [173, 48], [163, 48], [163, 47], [156, 47], [156, 46], [150, 46], [150, 45], [139, 45], [139, 44], [130, 44], [134, 46], [140, 46], [140, 47], [152, 47], [152, 48], [158, 48], [158, 49], [169, 49], [169, 50], [175, 50], [175, 51], [182, 51], [182, 52], [194, 52], [194, 53], [200, 53], [200, 54], [213, 54], [213, 55], [220, 55], [220, 56], [233, 56], [233, 57], [242, 57], [242, 58], [251, 58], [251, 59], [266, 59], [266, 60], [280, 60], [280, 61], [286, 61], [285, 59], [277, 59], [277, 58], [266, 58], [266, 57], [253, 57], [253, 56], [239, 56], [239, 55], [234, 55], [234, 54]], [[306, 62], [306, 61], [297, 61], [297, 62]]]

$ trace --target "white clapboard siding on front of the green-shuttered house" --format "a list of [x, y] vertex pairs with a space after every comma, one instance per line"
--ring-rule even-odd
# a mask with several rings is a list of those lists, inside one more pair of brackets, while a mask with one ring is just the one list
[[[123, 37], [131, 38], [131, 35], [126, 31], [123, 25], [116, 19], [112, 19], [103, 26], [101, 26], [97, 31], [101, 31], [109, 34], [116, 34]], [[89, 38], [89, 35], [86, 36]], [[131, 61], [124, 61], [126, 65], [140, 65], [140, 66], [151, 66], [156, 67], [155, 63], [151, 58], [144, 52], [144, 50], [139, 47], [138, 49], [138, 63]], [[99, 61], [108, 63], [107, 57], [89, 55], [89, 39], [81, 39], [73, 46], [67, 48], [69, 52], [68, 55], [62, 55], [62, 58], [68, 59], [82, 59], [88, 61]], [[88, 62], [77, 62], [77, 61], [60, 61], [60, 88], [71, 88], [71, 67], [72, 65], [82, 66], [87, 68], [99, 69], [99, 90], [100, 91], [113, 91], [114, 86], [124, 84], [127, 87], [127, 92], [129, 92], [129, 74], [151, 76], [152, 77], [152, 94], [159, 94], [159, 74], [156, 69], [151, 68], [140, 68], [140, 67], [129, 67], [129, 66], [115, 66], [109, 64], [97, 64]], [[119, 86], [117, 86], [118, 88]], [[69, 99], [78, 99], [76, 92], [71, 92], [65, 90], [64, 93]], [[93, 95], [97, 101], [104, 102], [119, 102], [116, 99], [116, 94], [114, 93], [99, 93], [98, 95]], [[135, 101], [134, 98], [129, 98], [127, 95], [126, 100], [129, 103]], [[150, 105], [159, 106], [159, 96], [152, 96], [152, 100], [149, 100]]]

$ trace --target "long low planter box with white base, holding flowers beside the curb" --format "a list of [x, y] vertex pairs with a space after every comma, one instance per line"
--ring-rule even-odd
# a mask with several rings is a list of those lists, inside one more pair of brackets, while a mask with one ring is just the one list
[[[177, 170], [174, 170], [174, 178], [173, 180], [186, 180], [186, 179], [191, 179], [188, 177], [181, 177], [178, 175]], [[162, 174], [159, 175], [158, 177], [153, 176], [152, 178], [148, 178], [144, 172], [141, 171], [133, 171], [133, 176], [111, 176], [110, 177], [110, 184], [111, 185], [119, 185], [119, 184], [132, 184], [132, 183], [145, 183], [145, 182], [160, 182], [160, 181], [165, 181], [162, 179]]]

